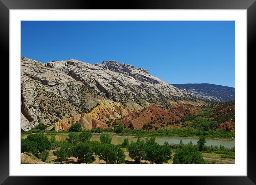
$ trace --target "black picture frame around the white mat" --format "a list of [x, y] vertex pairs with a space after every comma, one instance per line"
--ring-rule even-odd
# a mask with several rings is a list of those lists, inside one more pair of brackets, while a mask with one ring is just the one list
[[[253, 46], [256, 43], [256, 2], [255, 0], [129, 0], [129, 1], [92, 1], [92, 0], [0, 0], [0, 40], [5, 64], [9, 61], [9, 10], [11, 9], [246, 9], [247, 10], [247, 61], [256, 61]], [[245, 61], [245, 62], [247, 62]], [[247, 62], [248, 64], [248, 62]], [[9, 65], [7, 66], [9, 69]], [[247, 82], [248, 84], [248, 82]], [[6, 86], [7, 87], [7, 86]], [[7, 89], [7, 88], [6, 88]], [[247, 93], [248, 94], [248, 93]], [[9, 96], [9, 99], [11, 97]], [[247, 123], [243, 123], [247, 124]], [[9, 176], [9, 125], [2, 123], [0, 140], [0, 183], [3, 184], [48, 184], [52, 177], [10, 177]], [[247, 176], [230, 177], [182, 177], [179, 183], [191, 184], [255, 184], [256, 183], [256, 142], [253, 138], [253, 123], [247, 124]], [[78, 178], [78, 177], [75, 177]], [[88, 177], [86, 177], [88, 178]], [[112, 177], [113, 178], [113, 177]], [[133, 180], [123, 177], [122, 184], [131, 184]], [[174, 177], [169, 177], [174, 178]], [[58, 182], [66, 181], [61, 177]], [[104, 177], [103, 181], [108, 181]], [[100, 179], [97, 179], [99, 183]], [[144, 184], [151, 178], [144, 180]], [[78, 182], [78, 181], [77, 181]], [[88, 181], [89, 182], [89, 181]], [[174, 182], [172, 180], [172, 182]]]

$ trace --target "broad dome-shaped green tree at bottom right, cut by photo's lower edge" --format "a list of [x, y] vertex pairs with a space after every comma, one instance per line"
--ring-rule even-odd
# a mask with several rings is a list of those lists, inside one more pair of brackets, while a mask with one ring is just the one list
[[205, 164], [202, 154], [193, 145], [178, 148], [173, 156], [173, 164]]

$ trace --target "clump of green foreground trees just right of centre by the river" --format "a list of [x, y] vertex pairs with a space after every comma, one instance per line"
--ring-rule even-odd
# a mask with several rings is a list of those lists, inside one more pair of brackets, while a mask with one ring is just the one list
[[135, 160], [137, 164], [139, 164], [142, 159], [155, 164], [163, 164], [164, 162], [168, 162], [172, 157], [170, 147], [159, 145], [155, 137], [151, 137], [150, 139], [146, 138], [146, 142], [140, 138], [137, 142], [132, 141], [131, 144], [127, 146], [127, 150], [129, 151], [131, 159]]

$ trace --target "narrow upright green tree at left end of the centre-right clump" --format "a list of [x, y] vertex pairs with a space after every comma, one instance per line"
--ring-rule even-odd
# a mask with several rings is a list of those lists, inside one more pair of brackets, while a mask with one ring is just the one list
[[129, 156], [135, 160], [137, 164], [141, 162], [142, 157], [145, 156], [145, 142], [139, 138], [137, 142], [131, 142], [129, 146], [127, 147], [127, 150], [129, 151]]

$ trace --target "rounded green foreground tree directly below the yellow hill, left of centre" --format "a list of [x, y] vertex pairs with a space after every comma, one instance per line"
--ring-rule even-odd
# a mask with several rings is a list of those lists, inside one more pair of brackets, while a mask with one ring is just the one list
[[93, 156], [93, 145], [88, 141], [86, 143], [79, 143], [76, 152], [75, 157], [78, 158], [80, 162], [92, 163], [93, 160], [95, 160]]

